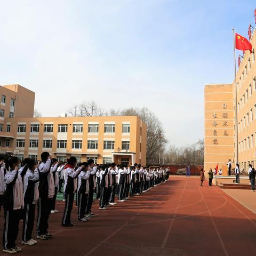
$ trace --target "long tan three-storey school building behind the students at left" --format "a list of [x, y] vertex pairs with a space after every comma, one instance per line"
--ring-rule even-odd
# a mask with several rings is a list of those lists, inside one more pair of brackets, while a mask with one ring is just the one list
[[43, 151], [65, 161], [92, 158], [107, 164], [146, 165], [147, 126], [137, 116], [33, 117], [35, 93], [0, 86], [0, 151], [40, 159]]

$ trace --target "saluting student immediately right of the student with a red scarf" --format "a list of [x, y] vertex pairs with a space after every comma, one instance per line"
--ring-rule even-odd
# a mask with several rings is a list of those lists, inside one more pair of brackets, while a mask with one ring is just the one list
[[87, 198], [89, 193], [89, 177], [90, 177], [90, 169], [88, 164], [82, 163], [84, 168], [81, 173], [78, 175], [78, 197], [79, 197], [79, 205], [78, 205], [78, 220], [82, 222], [88, 221], [85, 217], [85, 210], [87, 206]]

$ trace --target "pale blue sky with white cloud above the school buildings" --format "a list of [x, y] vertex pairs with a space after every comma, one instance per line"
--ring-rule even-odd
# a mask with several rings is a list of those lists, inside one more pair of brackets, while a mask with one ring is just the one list
[[[255, 1], [1, 1], [0, 84], [36, 92], [43, 116], [83, 100], [148, 107], [170, 144], [204, 137], [204, 85], [234, 78], [233, 32]], [[54, 107], [53, 107], [54, 106]]]

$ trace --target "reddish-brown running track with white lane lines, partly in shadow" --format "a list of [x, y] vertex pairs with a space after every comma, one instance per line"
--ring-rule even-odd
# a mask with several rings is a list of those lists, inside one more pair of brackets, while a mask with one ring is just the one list
[[[57, 210], [50, 216], [54, 238], [22, 246], [19, 255], [235, 256], [256, 250], [256, 215], [218, 187], [200, 187], [199, 178], [172, 176], [106, 211], [99, 210], [97, 201], [96, 216], [87, 223], [76, 221], [74, 207], [72, 228], [60, 225], [62, 202]], [[3, 213], [0, 219], [2, 231]]]

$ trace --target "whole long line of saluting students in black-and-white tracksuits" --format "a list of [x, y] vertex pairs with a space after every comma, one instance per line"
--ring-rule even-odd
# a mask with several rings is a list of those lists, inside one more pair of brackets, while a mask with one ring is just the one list
[[0, 162], [0, 205], [3, 202], [5, 218], [3, 251], [6, 253], [21, 251], [15, 243], [20, 219], [23, 219], [22, 244], [37, 243], [32, 237], [36, 205], [36, 236], [44, 240], [52, 238], [48, 221], [51, 212], [58, 212], [55, 210], [55, 200], [60, 171], [63, 171], [65, 194], [61, 225], [65, 227], [74, 226], [70, 215], [76, 191], [78, 220], [86, 222], [94, 216], [91, 209], [96, 187], [100, 209], [106, 210], [106, 206], [116, 204], [116, 194], [118, 201], [123, 202], [129, 193], [130, 196], [143, 193], [163, 181], [162, 169], [143, 169], [137, 164], [126, 169], [115, 163], [109, 166], [94, 165], [93, 160], [89, 159], [78, 167], [76, 158], [70, 157], [67, 164], [59, 166], [57, 159], [51, 158], [48, 152], [42, 153], [41, 159], [41, 164], [37, 165], [33, 159], [26, 158], [20, 169], [18, 157], [10, 156], [5, 162]]

